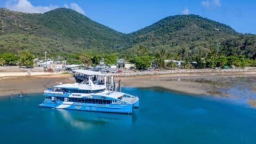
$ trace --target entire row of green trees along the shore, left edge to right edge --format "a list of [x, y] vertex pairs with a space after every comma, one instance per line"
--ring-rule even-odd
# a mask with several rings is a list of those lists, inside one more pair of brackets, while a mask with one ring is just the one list
[[[0, 66], [3, 65], [21, 65], [21, 66], [33, 66], [34, 59], [44, 59], [44, 55], [38, 53], [34, 55], [29, 51], [22, 51], [18, 54], [11, 52], [0, 53]], [[231, 67], [245, 67], [256, 66], [256, 60], [252, 58], [246, 58], [245, 55], [228, 55], [223, 52], [218, 52], [216, 49], [212, 49], [210, 52], [202, 57], [202, 54], [197, 54], [193, 57], [183, 57], [182, 52], [166, 52], [164, 49], [151, 53], [148, 48], [139, 45], [135, 49], [134, 54], [129, 53], [105, 53], [105, 54], [92, 54], [89, 52], [80, 53], [48, 53], [47, 58], [51, 58], [56, 61], [66, 60], [67, 64], [83, 64], [85, 66], [96, 66], [100, 64], [100, 61], [104, 59], [106, 65], [116, 65], [117, 59], [122, 58], [126, 61], [134, 63], [137, 69], [154, 68], [174, 68], [177, 64], [174, 61], [168, 63], [165, 60], [182, 60], [180, 68], [231, 68]], [[194, 61], [194, 65], [191, 62]]]

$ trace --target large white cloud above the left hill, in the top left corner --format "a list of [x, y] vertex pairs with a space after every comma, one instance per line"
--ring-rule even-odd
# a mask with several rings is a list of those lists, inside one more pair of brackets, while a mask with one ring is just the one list
[[57, 5], [34, 6], [27, 0], [9, 0], [6, 2], [5, 7], [13, 11], [27, 13], [44, 13], [58, 8]]

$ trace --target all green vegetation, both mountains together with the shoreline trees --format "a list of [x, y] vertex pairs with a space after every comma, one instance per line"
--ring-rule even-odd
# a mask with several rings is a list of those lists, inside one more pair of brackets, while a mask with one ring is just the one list
[[[190, 67], [189, 61], [197, 61], [197, 68], [243, 67], [244, 63], [255, 65], [256, 36], [239, 34], [198, 15], [175, 15], [122, 34], [70, 9], [44, 14], [0, 9], [0, 64], [21, 61], [30, 65], [26, 59], [15, 58], [21, 53], [26, 58], [31, 56], [23, 51], [36, 58], [47, 51], [53, 59], [86, 65], [97, 65], [101, 58], [114, 64], [119, 57], [140, 68], [148, 68], [149, 62], [159, 68], [175, 66], [165, 59], [184, 60], [184, 68]], [[246, 62], [234, 62], [244, 59]]]

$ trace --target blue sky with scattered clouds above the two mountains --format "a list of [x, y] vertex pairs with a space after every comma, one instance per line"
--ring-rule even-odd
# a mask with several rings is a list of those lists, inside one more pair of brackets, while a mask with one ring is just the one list
[[122, 33], [171, 15], [196, 14], [225, 23], [239, 33], [256, 34], [255, 0], [0, 0], [0, 7], [27, 13], [66, 7]]

